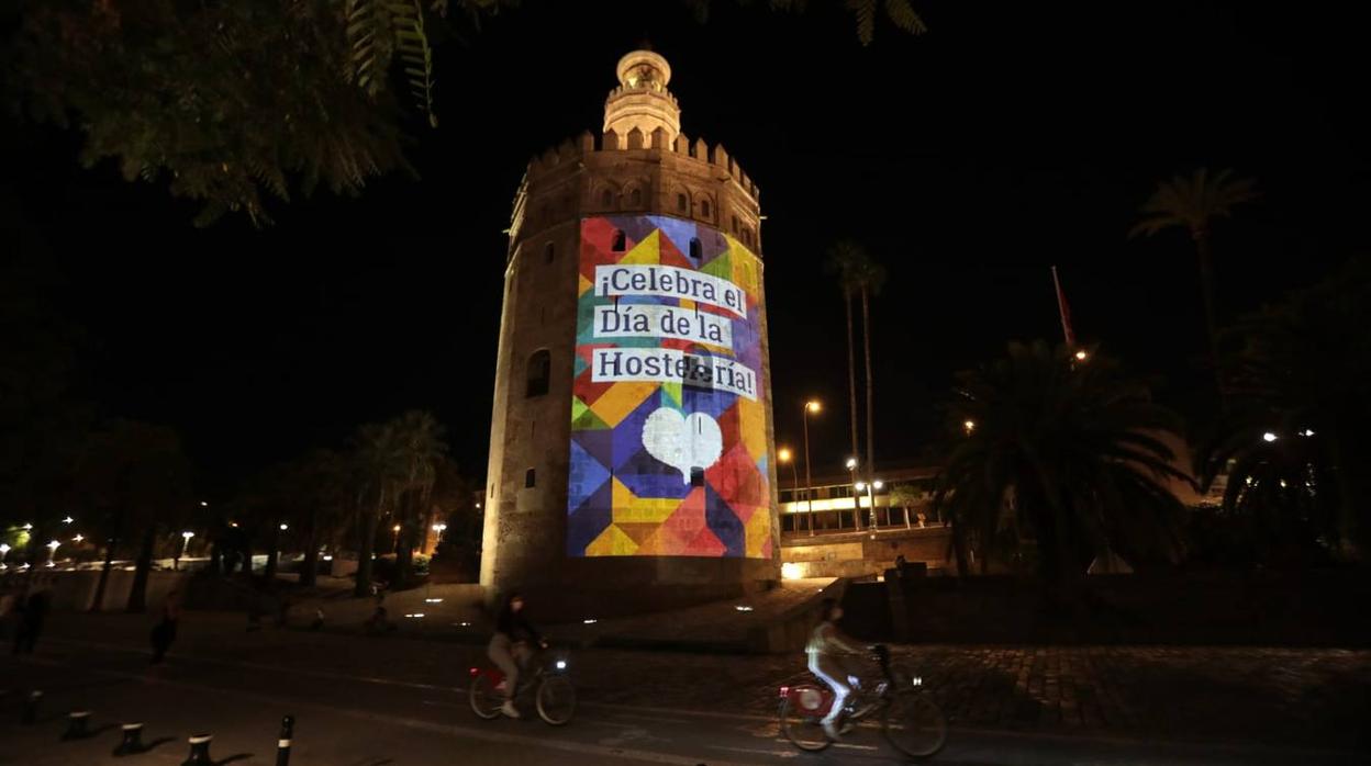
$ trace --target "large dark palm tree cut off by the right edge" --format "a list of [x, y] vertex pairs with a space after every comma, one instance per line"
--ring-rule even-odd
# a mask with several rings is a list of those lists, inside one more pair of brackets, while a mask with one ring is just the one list
[[1197, 451], [1205, 486], [1253, 540], [1294, 537], [1346, 559], [1371, 544], [1371, 260], [1249, 315], [1226, 334], [1231, 411]]

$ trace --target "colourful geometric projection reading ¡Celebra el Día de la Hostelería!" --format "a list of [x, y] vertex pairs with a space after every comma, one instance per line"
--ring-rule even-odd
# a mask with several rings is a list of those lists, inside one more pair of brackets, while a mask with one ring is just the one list
[[771, 558], [760, 281], [707, 226], [581, 221], [569, 555]]

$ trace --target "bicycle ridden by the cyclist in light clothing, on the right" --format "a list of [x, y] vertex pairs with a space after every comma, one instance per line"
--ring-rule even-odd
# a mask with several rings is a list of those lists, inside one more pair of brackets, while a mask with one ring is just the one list
[[[924, 691], [923, 678], [891, 666], [887, 647], [872, 647], [872, 654], [883, 678], [865, 680], [853, 691], [838, 718], [839, 732], [846, 734], [862, 719], [879, 714], [882, 732], [895, 750], [913, 759], [936, 755], [947, 744], [947, 717]], [[781, 687], [780, 730], [799, 750], [821, 751], [834, 744], [821, 724], [832, 704], [834, 691], [828, 684], [803, 681]]]

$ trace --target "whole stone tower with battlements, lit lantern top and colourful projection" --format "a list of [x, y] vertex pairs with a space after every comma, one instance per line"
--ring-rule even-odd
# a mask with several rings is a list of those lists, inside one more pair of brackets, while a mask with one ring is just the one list
[[651, 51], [514, 199], [481, 584], [628, 613], [779, 577], [757, 186]]

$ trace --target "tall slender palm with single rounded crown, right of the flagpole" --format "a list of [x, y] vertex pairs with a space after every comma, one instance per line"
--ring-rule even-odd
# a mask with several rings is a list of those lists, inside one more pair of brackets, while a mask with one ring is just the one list
[[[1256, 181], [1234, 178], [1231, 169], [1209, 175], [1201, 167], [1189, 178], [1176, 175], [1157, 184], [1156, 192], [1142, 206], [1142, 218], [1128, 233], [1131, 237], [1152, 236], [1180, 227], [1190, 233], [1200, 262], [1200, 289], [1204, 293], [1205, 330], [1209, 336], [1209, 362], [1217, 374], [1219, 332], [1213, 306], [1213, 263], [1209, 255], [1209, 233], [1213, 222], [1227, 218], [1233, 208], [1256, 199]], [[1220, 385], [1222, 393], [1222, 385]]]

